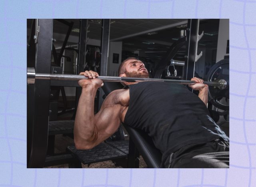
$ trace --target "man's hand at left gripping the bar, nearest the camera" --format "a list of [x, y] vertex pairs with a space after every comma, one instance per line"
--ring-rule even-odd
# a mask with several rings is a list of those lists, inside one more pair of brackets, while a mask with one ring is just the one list
[[85, 77], [88, 77], [88, 79], [81, 79], [78, 81], [79, 86], [82, 88], [100, 88], [103, 86], [103, 82], [100, 79], [97, 79], [99, 74], [94, 71], [85, 71], [81, 72], [79, 75], [84, 75]]

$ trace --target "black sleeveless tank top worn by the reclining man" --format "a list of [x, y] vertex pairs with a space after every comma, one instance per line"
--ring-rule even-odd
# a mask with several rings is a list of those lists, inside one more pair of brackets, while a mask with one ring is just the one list
[[219, 137], [228, 141], [204, 102], [186, 86], [141, 82], [128, 87], [130, 101], [124, 123], [148, 133], [163, 154]]

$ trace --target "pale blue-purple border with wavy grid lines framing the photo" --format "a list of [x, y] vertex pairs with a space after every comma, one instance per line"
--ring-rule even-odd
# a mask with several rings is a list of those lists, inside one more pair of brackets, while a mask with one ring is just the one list
[[[0, 186], [256, 186], [256, 0], [1, 0]], [[26, 169], [27, 18], [229, 18], [230, 169]]]

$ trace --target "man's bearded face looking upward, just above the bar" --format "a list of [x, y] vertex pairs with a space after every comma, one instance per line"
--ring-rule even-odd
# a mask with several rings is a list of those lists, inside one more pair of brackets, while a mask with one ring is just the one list
[[124, 77], [148, 78], [148, 70], [140, 60], [127, 60], [124, 67]]

